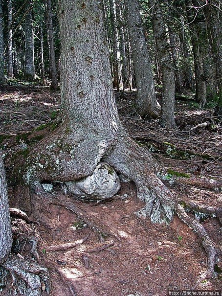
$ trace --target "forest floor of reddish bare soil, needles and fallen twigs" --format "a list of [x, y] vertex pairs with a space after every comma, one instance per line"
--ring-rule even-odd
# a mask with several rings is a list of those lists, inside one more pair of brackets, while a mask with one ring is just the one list
[[[121, 98], [116, 93], [121, 121], [131, 137], [168, 169], [165, 184], [185, 202], [221, 205], [222, 192], [209, 185], [222, 182], [222, 125], [213, 117], [211, 107], [199, 108], [192, 96], [176, 100], [178, 129], [167, 131], [159, 127], [157, 120], [135, 116], [134, 98], [135, 92], [125, 91]], [[49, 88], [14, 85], [0, 91], [0, 141], [7, 175], [13, 169], [10, 156], [26, 147], [22, 134], [53, 121], [59, 108], [60, 94]], [[205, 126], [198, 126], [203, 122]], [[9, 184], [9, 196], [11, 189]], [[59, 188], [56, 196], [63, 198]], [[81, 224], [77, 216], [58, 205], [50, 205], [50, 210], [37, 206], [30, 217], [36, 223], [14, 220], [15, 238], [21, 231], [39, 238], [41, 264], [48, 267], [51, 276], [50, 296], [165, 296], [169, 290], [222, 290], [221, 273], [203, 279], [206, 253], [197, 235], [177, 216], [167, 226], [134, 215], [143, 203], [136, 199], [133, 182], [121, 182], [114, 199], [73, 202], [91, 221], [120, 240], [104, 234], [105, 242], [100, 242], [88, 227], [75, 230]], [[197, 219], [203, 220], [209, 236], [222, 249], [218, 219], [201, 215]], [[89, 238], [75, 248], [47, 249], [80, 240], [88, 233]], [[105, 243], [114, 244], [100, 250]], [[28, 244], [21, 245], [17, 251], [24, 256], [28, 248]], [[221, 257], [217, 271], [222, 268]], [[70, 285], [75, 294], [70, 292]], [[7, 285], [4, 287], [0, 281], [0, 296], [10, 295], [5, 291]]]

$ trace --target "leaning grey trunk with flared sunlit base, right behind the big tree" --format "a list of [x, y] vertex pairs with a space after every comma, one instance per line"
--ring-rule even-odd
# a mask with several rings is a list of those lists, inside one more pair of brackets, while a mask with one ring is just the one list
[[138, 1], [125, 0], [125, 9], [137, 85], [136, 108], [140, 116], [150, 114], [157, 117], [160, 113], [160, 106], [155, 98], [154, 78]]

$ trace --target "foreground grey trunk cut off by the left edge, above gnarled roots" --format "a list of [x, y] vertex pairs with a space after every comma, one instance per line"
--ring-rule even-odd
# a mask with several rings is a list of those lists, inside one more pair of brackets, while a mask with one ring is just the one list
[[11, 247], [12, 230], [8, 209], [7, 183], [0, 149], [0, 265], [8, 258]]

